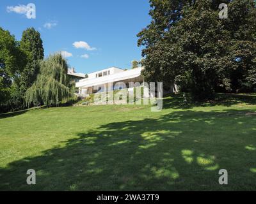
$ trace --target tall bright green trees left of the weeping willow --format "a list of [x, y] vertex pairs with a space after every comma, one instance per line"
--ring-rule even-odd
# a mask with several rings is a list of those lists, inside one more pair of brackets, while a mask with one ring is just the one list
[[28, 28], [18, 42], [9, 31], [0, 29], [0, 44], [0, 84], [5, 85], [0, 88], [3, 93], [0, 96], [2, 108], [4, 111], [25, 108], [24, 94], [35, 81], [40, 69], [39, 62], [44, 58], [40, 33]]

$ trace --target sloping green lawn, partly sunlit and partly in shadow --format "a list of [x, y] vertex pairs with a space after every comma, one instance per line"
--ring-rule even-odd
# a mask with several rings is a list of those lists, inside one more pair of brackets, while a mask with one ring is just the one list
[[[223, 96], [221, 96], [223, 98]], [[256, 190], [256, 95], [0, 115], [0, 190]], [[228, 185], [218, 171], [228, 170]], [[36, 185], [26, 171], [36, 170]]]

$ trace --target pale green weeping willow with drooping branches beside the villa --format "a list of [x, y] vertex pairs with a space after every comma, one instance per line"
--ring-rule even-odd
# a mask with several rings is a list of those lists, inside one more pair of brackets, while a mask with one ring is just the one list
[[44, 103], [58, 105], [63, 99], [72, 96], [68, 87], [68, 64], [61, 54], [50, 55], [40, 62], [40, 73], [33, 85], [26, 91], [27, 105]]

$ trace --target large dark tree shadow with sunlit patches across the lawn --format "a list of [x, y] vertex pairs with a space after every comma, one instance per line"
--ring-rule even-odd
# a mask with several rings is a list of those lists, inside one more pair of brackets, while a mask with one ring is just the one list
[[[0, 169], [0, 190], [255, 190], [253, 110], [180, 111], [99, 126]], [[228, 170], [228, 186], [218, 171]], [[26, 171], [36, 170], [36, 185]]]

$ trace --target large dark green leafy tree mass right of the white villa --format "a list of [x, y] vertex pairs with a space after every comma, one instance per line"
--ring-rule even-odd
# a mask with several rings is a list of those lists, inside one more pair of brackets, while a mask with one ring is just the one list
[[[218, 16], [220, 3], [228, 4], [227, 19]], [[138, 34], [146, 81], [186, 84], [199, 100], [217, 89], [236, 91], [239, 80], [256, 84], [252, 0], [151, 0], [150, 6], [152, 22]]]

